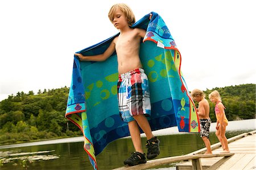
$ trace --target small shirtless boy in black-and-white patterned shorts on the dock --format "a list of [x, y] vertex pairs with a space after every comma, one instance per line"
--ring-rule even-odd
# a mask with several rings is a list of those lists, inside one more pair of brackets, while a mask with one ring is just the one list
[[199, 89], [194, 89], [191, 92], [191, 96], [194, 100], [199, 102], [199, 107], [197, 109], [197, 114], [199, 115], [200, 121], [200, 137], [204, 140], [205, 147], [207, 147], [207, 151], [205, 154], [212, 154], [212, 150], [210, 148], [210, 140], [209, 131], [210, 131], [210, 106], [207, 99], [205, 99], [205, 94], [203, 91]]

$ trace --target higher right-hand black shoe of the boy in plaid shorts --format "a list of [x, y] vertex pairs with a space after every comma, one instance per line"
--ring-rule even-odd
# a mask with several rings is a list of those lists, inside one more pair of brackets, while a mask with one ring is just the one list
[[147, 140], [147, 159], [153, 159], [160, 154], [159, 143], [160, 140], [156, 136]]

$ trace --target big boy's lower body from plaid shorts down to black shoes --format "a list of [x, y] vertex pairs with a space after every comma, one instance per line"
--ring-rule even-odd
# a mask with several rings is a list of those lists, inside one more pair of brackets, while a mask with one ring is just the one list
[[[137, 68], [127, 73], [119, 74], [117, 83], [118, 106], [119, 114], [124, 122], [128, 122], [131, 138], [134, 143], [135, 152], [124, 161], [127, 165], [136, 165], [146, 163], [141, 148], [141, 138], [138, 138], [139, 127], [148, 134], [151, 138], [147, 140], [146, 147], [148, 148], [147, 159], [153, 159], [160, 153], [159, 139], [152, 135], [150, 125], [146, 117], [151, 114], [150, 91], [148, 88], [147, 74], [143, 68]], [[140, 135], [139, 135], [140, 136]], [[134, 161], [136, 160], [136, 161]]]

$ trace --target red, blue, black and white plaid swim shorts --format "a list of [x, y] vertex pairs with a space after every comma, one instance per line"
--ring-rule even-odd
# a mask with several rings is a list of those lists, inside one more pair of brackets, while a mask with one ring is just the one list
[[119, 74], [117, 93], [119, 113], [124, 122], [134, 121], [134, 115], [150, 116], [150, 92], [144, 69]]

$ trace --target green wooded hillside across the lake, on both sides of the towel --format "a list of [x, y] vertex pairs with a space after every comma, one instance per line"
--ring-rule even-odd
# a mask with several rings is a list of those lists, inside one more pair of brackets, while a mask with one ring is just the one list
[[[255, 118], [255, 84], [207, 89], [207, 99], [213, 90], [220, 92], [230, 121]], [[18, 92], [1, 101], [0, 144], [81, 136], [80, 129], [64, 117], [68, 93], [67, 87], [39, 90], [37, 94]], [[209, 103], [210, 118], [216, 122], [214, 104]]]

